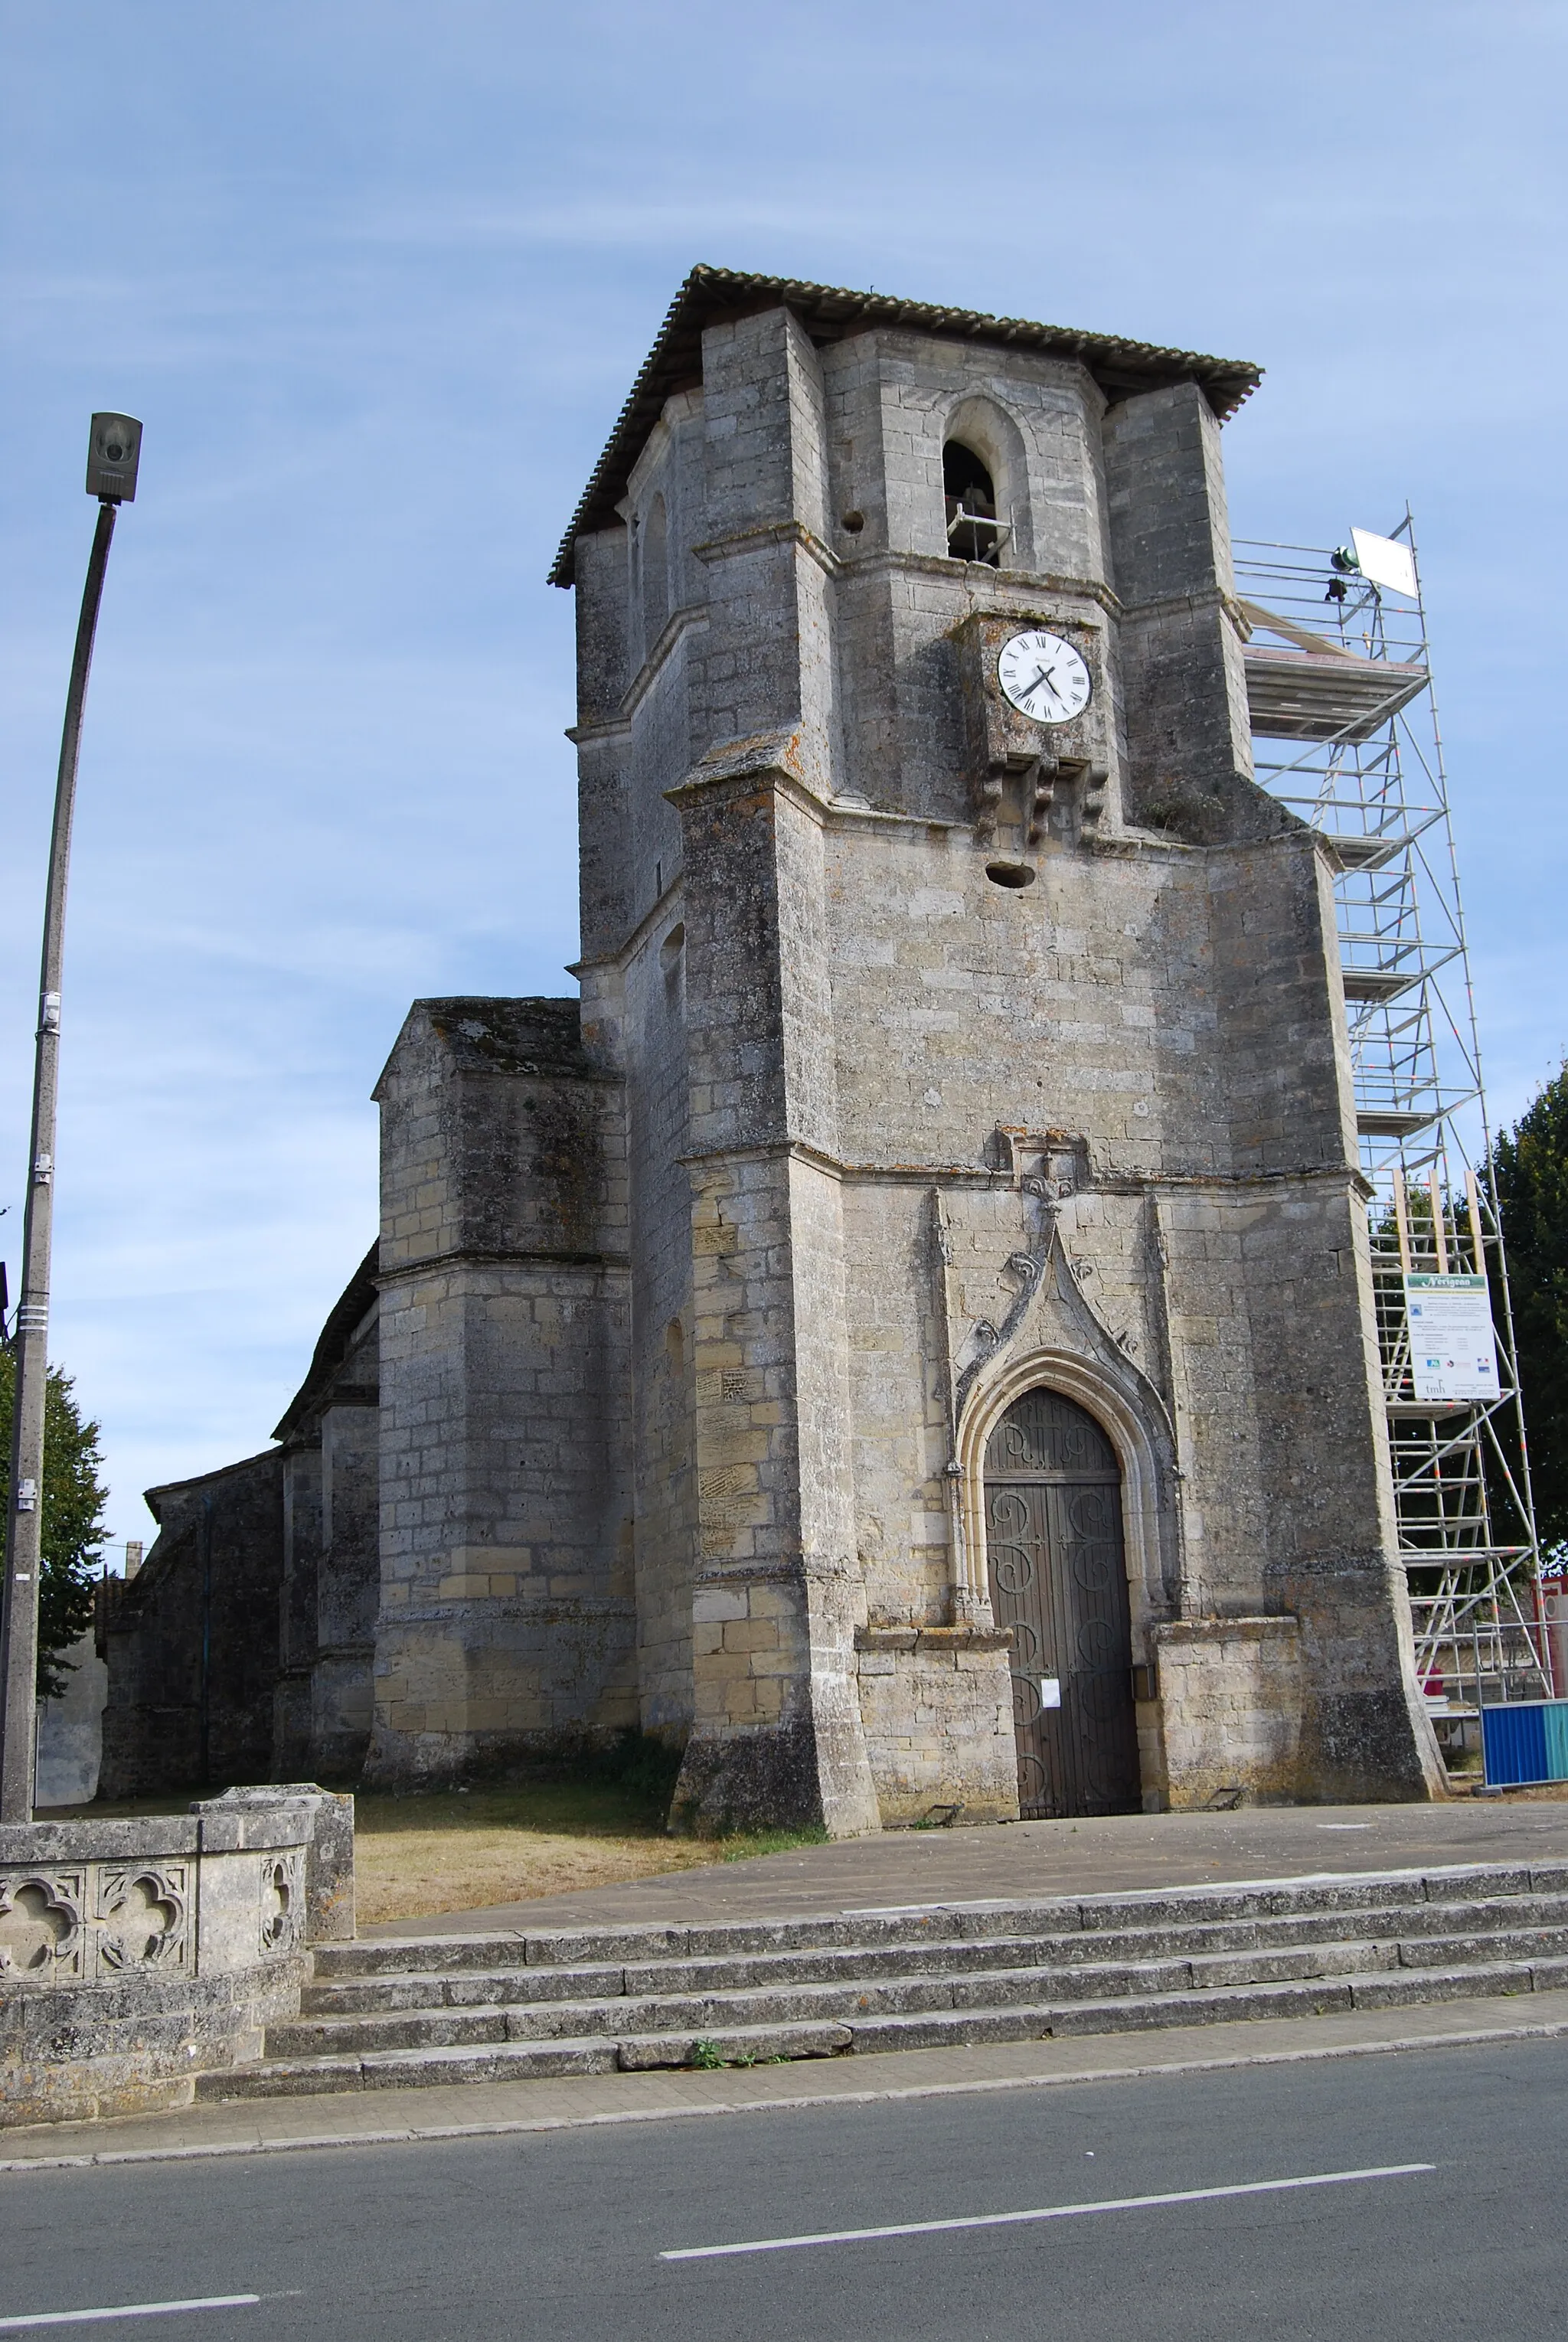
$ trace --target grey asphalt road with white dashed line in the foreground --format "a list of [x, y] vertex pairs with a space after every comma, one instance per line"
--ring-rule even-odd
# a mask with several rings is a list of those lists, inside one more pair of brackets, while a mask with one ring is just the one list
[[[1568, 2042], [0, 2176], [0, 2333], [1470, 2342], [1568, 2328]], [[1390, 2169], [1390, 2166], [1432, 2169]], [[1268, 2192], [1324, 2173], [1331, 2185]], [[1181, 2194], [1186, 2201], [1127, 2199]], [[1057, 2213], [991, 2223], [996, 2213]], [[902, 2234], [663, 2258], [823, 2232]]]

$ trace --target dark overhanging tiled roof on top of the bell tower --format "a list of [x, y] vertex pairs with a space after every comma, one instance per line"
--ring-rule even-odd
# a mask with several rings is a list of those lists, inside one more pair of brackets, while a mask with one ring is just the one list
[[642, 361], [609, 445], [572, 513], [551, 586], [572, 583], [574, 541], [588, 529], [614, 522], [630, 468], [666, 398], [703, 379], [703, 328], [727, 314], [743, 316], [762, 307], [795, 309], [816, 335], [912, 326], [956, 342], [998, 342], [1013, 349], [1041, 349], [1052, 358], [1080, 358], [1095, 382], [1113, 396], [1158, 389], [1163, 382], [1198, 382], [1221, 422], [1235, 415], [1242, 398], [1261, 382], [1261, 368], [1247, 365], [1245, 358], [1205, 358], [1195, 349], [1158, 349], [1153, 342], [1123, 342], [1111, 333], [1076, 333], [1071, 326], [1031, 326], [1027, 319], [984, 316], [980, 309], [938, 309], [930, 302], [895, 300], [891, 293], [809, 286], [795, 276], [745, 276], [736, 269], [696, 267], [670, 302], [659, 340]]

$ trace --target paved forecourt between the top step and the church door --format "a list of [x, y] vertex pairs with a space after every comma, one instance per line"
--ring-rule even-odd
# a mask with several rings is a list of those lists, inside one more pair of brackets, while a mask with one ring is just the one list
[[1249, 1806], [1240, 1813], [1125, 1813], [1104, 1822], [891, 1829], [792, 1855], [715, 1862], [586, 1895], [380, 1920], [368, 1939], [497, 1934], [509, 1927], [691, 1927], [905, 1904], [1134, 1895], [1226, 1881], [1568, 1862], [1568, 1803], [1455, 1799], [1451, 1806]]

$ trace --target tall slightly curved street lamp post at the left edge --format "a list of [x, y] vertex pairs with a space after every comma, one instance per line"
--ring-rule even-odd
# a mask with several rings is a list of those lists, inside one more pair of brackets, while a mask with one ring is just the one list
[[42, 1571], [45, 1389], [49, 1372], [49, 1244], [54, 1237], [54, 1108], [61, 1059], [61, 956], [70, 815], [77, 794], [87, 670], [98, 630], [98, 602], [115, 513], [136, 497], [141, 424], [129, 415], [94, 415], [87, 445], [87, 494], [98, 499], [82, 590], [77, 646], [70, 660], [61, 766], [54, 785], [45, 951], [38, 981], [38, 1052], [33, 1059], [33, 1143], [21, 1227], [21, 1295], [12, 1356], [12, 1487], [5, 1508], [5, 1595], [0, 1604], [0, 1822], [33, 1820], [33, 1719], [38, 1707], [38, 1581]]

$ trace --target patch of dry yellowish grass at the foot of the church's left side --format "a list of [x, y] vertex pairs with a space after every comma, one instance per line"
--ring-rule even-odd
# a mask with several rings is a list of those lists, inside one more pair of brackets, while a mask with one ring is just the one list
[[354, 1904], [361, 1925], [577, 1895], [710, 1862], [816, 1845], [825, 1831], [670, 1838], [663, 1801], [619, 1782], [530, 1782], [354, 1799]]

